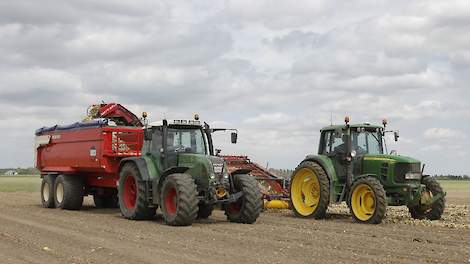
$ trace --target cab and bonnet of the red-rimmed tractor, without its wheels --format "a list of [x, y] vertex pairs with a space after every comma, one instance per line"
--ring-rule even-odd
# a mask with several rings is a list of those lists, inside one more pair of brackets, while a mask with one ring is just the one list
[[[158, 174], [186, 170], [198, 183], [200, 195], [211, 201], [227, 198], [229, 175], [222, 158], [212, 154], [211, 129], [199, 120], [162, 120], [144, 129], [143, 154], [155, 162]], [[210, 192], [211, 188], [218, 189]]]

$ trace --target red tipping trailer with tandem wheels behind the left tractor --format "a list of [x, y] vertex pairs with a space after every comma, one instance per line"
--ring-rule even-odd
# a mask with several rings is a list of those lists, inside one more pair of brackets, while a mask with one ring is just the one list
[[[98, 207], [117, 206], [119, 162], [141, 155], [143, 130], [134, 124], [111, 125], [115, 124], [111, 121], [97, 119], [36, 131], [36, 167], [43, 178], [44, 207], [79, 209], [87, 194], [93, 195]], [[64, 192], [73, 195], [64, 196]]]

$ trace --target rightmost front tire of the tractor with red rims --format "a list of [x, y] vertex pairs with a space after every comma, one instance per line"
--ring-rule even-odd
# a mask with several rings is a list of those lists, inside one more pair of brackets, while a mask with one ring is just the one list
[[237, 202], [224, 206], [225, 215], [230, 222], [253, 224], [263, 210], [258, 182], [250, 175], [238, 174], [233, 175], [233, 184], [235, 191], [242, 191], [243, 196]]

